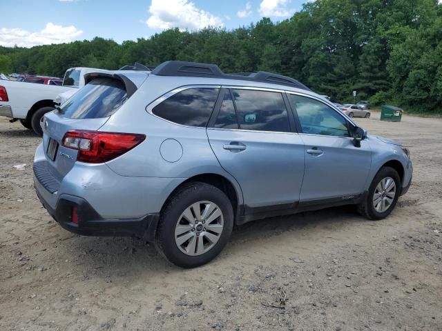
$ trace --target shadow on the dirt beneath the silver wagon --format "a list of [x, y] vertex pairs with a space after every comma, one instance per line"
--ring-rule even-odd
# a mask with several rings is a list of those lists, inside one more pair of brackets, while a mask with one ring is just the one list
[[[363, 222], [367, 221], [356, 213], [354, 205], [252, 221], [233, 230], [231, 240], [224, 248], [224, 253], [227, 250], [228, 254], [222, 252], [214, 263], [226, 261], [232, 255], [241, 256], [251, 249], [250, 245], [254, 244], [253, 241], [267, 239], [264, 243], [260, 243], [261, 247], [267, 244], [274, 245], [272, 237], [275, 237], [274, 240], [278, 242], [280, 239], [277, 236], [290, 232], [293, 236], [290, 240], [296, 242], [305, 237], [305, 233], [311, 237], [318, 237], [323, 236], [324, 230], [336, 232], [340, 228], [357, 226], [358, 223]], [[174, 272], [173, 270], [180, 272], [182, 270], [171, 265], [158, 254], [153, 243], [146, 243], [142, 239], [75, 236], [66, 244], [70, 246], [67, 248], [69, 251], [87, 252], [82, 257], [82, 263], [88, 265], [88, 268], [97, 268], [99, 265], [104, 274], [116, 269], [123, 273], [131, 270], [133, 274], [134, 263], [140, 274], [154, 270], [155, 272]]]

